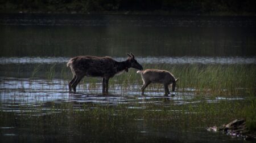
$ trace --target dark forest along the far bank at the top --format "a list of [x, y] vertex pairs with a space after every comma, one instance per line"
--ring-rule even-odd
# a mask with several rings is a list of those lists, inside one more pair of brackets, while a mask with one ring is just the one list
[[0, 12], [255, 15], [255, 0], [0, 0]]

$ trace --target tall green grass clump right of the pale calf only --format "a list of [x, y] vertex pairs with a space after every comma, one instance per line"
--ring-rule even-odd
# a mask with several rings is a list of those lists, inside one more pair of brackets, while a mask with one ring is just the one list
[[180, 77], [177, 87], [196, 89], [199, 92], [237, 93], [240, 89], [255, 90], [254, 64], [146, 64], [144, 68], [167, 70]]

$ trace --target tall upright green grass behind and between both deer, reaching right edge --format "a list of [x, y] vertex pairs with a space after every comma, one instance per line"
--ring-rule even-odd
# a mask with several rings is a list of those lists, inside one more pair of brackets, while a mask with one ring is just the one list
[[[180, 80], [176, 85], [179, 92], [191, 90], [197, 93], [211, 95], [234, 96], [255, 92], [256, 66], [255, 64], [144, 64], [144, 69], [155, 68], [170, 71]], [[43, 70], [43, 71], [40, 71]], [[31, 77], [36, 77], [44, 72], [47, 79], [61, 78], [72, 79], [72, 73], [64, 65], [52, 64], [45, 68], [35, 66]], [[137, 70], [130, 69], [122, 75], [114, 76], [109, 80], [109, 89], [114, 90], [116, 84], [121, 85], [122, 93], [129, 92], [130, 85], [142, 86], [141, 75]], [[80, 83], [81, 88], [89, 90], [98, 89], [101, 86], [101, 78], [84, 77]], [[82, 85], [82, 86], [81, 86]], [[170, 87], [171, 88], [171, 87]], [[160, 84], [150, 84], [147, 90], [162, 91]], [[245, 92], [246, 91], [246, 92]]]

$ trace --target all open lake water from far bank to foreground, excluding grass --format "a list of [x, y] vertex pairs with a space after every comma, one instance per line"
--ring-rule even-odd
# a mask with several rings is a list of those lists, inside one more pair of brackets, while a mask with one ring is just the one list
[[[67, 118], [65, 125], [56, 125], [56, 118], [52, 117], [50, 121], [56, 126], [51, 128], [46, 125], [48, 122], [39, 122], [45, 127], [42, 131], [31, 127], [32, 123], [16, 119], [43, 116], [47, 120], [69, 103], [75, 111], [84, 111], [85, 105], [127, 105], [127, 109], [138, 111], [148, 111], [151, 106], [196, 106], [201, 99], [193, 87], [177, 87], [176, 92], [165, 97], [161, 86], [150, 86], [146, 96], [141, 96], [142, 83], [124, 86], [115, 82], [118, 79], [110, 86], [108, 96], [101, 94], [101, 80], [97, 78], [81, 83], [78, 93], [69, 93], [71, 73], [65, 64], [77, 55], [108, 55], [122, 61], [126, 53], [133, 52], [142, 65], [163, 68], [193, 64], [255, 65], [255, 25], [255, 16], [1, 14], [0, 111], [2, 115], [15, 116], [2, 116], [0, 142], [245, 142], [207, 132], [202, 125], [180, 129], [143, 119], [115, 124], [90, 121], [91, 124], [79, 127], [72, 123], [72, 117]], [[234, 88], [240, 91], [241, 87]], [[213, 104], [243, 102], [244, 90], [241, 88], [241, 93], [235, 96], [206, 94], [203, 98]], [[10, 122], [6, 122], [9, 118]]]

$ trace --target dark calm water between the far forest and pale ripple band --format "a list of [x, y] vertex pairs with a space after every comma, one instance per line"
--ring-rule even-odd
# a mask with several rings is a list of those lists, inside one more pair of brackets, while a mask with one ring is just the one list
[[1, 15], [1, 57], [255, 56], [256, 18]]

